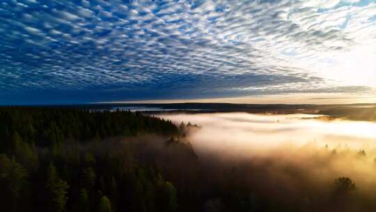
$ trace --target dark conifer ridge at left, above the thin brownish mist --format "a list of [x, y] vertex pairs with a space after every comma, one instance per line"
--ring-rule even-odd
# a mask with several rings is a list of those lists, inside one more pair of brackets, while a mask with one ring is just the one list
[[[102, 137], [141, 132], [177, 134], [171, 121], [126, 111], [89, 111], [38, 107], [0, 108], [1, 151], [13, 152], [21, 142], [52, 147], [56, 153], [67, 139], [99, 141]], [[13, 151], [12, 151], [13, 150]]]

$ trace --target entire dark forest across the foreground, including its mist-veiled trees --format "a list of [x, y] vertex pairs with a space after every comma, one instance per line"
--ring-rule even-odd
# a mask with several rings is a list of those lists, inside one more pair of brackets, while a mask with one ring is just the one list
[[222, 165], [198, 158], [185, 136], [198, 128], [139, 112], [3, 107], [2, 210], [375, 209], [373, 197], [352, 195], [357, 185], [347, 177], [288, 185], [274, 176], [273, 161]]

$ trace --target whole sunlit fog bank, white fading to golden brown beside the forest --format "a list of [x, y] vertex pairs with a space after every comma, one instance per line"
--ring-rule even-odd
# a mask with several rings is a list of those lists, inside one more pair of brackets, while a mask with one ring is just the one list
[[[199, 158], [263, 167], [260, 176], [283, 183], [333, 183], [348, 176], [358, 190], [376, 190], [376, 123], [311, 114], [163, 114], [187, 134]], [[208, 161], [208, 160], [206, 160]], [[325, 184], [325, 183], [324, 183]], [[372, 189], [371, 189], [372, 188]]]

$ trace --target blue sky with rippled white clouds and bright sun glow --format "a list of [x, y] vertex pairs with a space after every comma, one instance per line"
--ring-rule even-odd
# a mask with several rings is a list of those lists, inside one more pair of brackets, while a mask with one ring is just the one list
[[0, 104], [376, 102], [375, 0], [0, 2]]

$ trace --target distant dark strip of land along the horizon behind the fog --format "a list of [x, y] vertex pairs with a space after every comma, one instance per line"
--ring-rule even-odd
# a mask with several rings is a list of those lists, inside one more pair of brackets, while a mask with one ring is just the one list
[[[231, 104], [231, 103], [169, 103], [169, 104], [123, 104], [105, 103], [91, 105], [72, 105], [90, 109], [111, 109], [116, 107], [150, 107], [150, 113], [215, 113], [215, 112], [248, 112], [253, 114], [324, 114], [334, 118], [353, 121], [376, 121], [375, 104], [348, 105], [283, 105], [283, 104]], [[153, 111], [152, 108], [161, 108]]]

